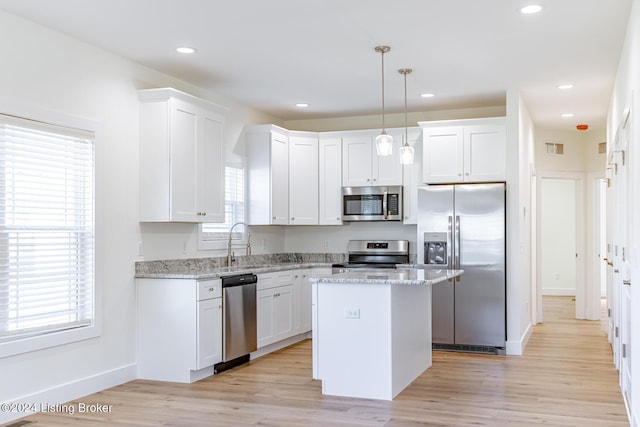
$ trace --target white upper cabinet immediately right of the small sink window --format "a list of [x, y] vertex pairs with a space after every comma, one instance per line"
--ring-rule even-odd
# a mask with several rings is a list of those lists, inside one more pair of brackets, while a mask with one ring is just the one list
[[289, 131], [258, 125], [248, 127], [246, 132], [247, 222], [289, 224]]

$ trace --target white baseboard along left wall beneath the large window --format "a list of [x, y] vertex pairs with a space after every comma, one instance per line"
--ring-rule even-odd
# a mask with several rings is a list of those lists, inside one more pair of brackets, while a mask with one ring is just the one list
[[9, 408], [13, 405], [13, 409], [23, 409], [24, 407], [26, 411], [0, 411], [0, 424], [15, 421], [19, 418], [32, 415], [34, 412], [40, 412], [41, 408], [47, 408], [48, 405], [63, 404], [71, 400], [77, 400], [83, 396], [97, 393], [135, 379], [136, 364], [132, 363], [131, 365], [122, 366], [111, 371], [102, 372], [21, 396], [9, 402], [2, 402], [5, 405], [9, 405]]

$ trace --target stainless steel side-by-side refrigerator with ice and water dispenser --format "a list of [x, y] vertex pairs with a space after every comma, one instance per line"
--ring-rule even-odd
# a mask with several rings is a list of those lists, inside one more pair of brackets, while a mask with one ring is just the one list
[[505, 191], [504, 183], [418, 189], [418, 262], [464, 270], [433, 285], [434, 348], [504, 352]]

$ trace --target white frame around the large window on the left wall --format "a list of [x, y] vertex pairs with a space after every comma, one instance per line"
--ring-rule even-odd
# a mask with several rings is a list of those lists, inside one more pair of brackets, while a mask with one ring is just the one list
[[53, 126], [79, 129], [93, 134], [93, 318], [90, 324], [49, 333], [31, 334], [0, 343], [0, 359], [27, 352], [70, 344], [102, 335], [102, 286], [97, 280], [98, 261], [96, 225], [96, 152], [100, 141], [100, 124], [95, 120], [72, 116], [63, 112], [46, 110], [29, 103], [0, 97], [0, 114], [20, 119], [51, 124]]

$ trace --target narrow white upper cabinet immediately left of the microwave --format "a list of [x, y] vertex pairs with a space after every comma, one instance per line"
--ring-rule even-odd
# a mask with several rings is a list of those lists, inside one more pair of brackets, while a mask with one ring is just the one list
[[320, 134], [319, 224], [342, 224], [342, 138]]

